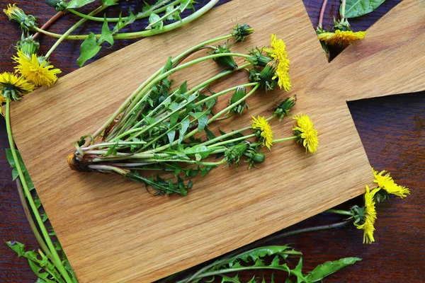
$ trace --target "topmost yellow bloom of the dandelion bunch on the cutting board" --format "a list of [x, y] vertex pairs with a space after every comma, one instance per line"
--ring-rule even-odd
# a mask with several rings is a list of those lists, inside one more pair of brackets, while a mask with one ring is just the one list
[[290, 91], [292, 87], [289, 76], [289, 64], [288, 54], [286, 53], [285, 42], [281, 39], [277, 39], [276, 35], [271, 35], [271, 48], [264, 48], [264, 51], [268, 53], [276, 62], [278, 66], [276, 68], [275, 76], [272, 79], [278, 79], [278, 86], [283, 88], [285, 91]]

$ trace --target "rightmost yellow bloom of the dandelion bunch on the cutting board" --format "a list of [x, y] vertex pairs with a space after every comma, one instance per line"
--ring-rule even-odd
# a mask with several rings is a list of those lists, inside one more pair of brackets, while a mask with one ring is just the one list
[[314, 154], [319, 146], [319, 138], [317, 137], [317, 129], [314, 129], [313, 122], [308, 115], [296, 115], [293, 119], [297, 120], [297, 125], [293, 127], [294, 134], [298, 137], [298, 141], [302, 143], [306, 151]]

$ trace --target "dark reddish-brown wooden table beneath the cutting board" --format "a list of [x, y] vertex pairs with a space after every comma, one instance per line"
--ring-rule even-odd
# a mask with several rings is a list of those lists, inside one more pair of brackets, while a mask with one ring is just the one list
[[[44, 1], [16, 1], [28, 13], [38, 16], [39, 23], [45, 23], [55, 11], [45, 6]], [[202, 3], [203, 1], [200, 1]], [[225, 2], [225, 1], [220, 1]], [[387, 0], [375, 12], [351, 21], [354, 30], [365, 30], [382, 15], [395, 6], [399, 0]], [[8, 2], [0, 1], [5, 8]], [[304, 0], [313, 25], [317, 24], [320, 0]], [[124, 6], [137, 10], [140, 1], [128, 1]], [[128, 7], [123, 8], [123, 11]], [[329, 0], [324, 26], [332, 24], [339, 1]], [[116, 8], [115, 8], [116, 10]], [[116, 11], [115, 11], [116, 12]], [[51, 30], [64, 31], [76, 17], [65, 16], [55, 23]], [[1, 71], [13, 71], [11, 56], [16, 52], [13, 45], [21, 32], [6, 16], [0, 16], [0, 63]], [[98, 30], [99, 25], [85, 25], [81, 31]], [[130, 28], [137, 30], [137, 26]], [[116, 42], [113, 48], [103, 49], [98, 57], [134, 42]], [[41, 53], [54, 43], [48, 37], [40, 37]], [[77, 69], [75, 60], [79, 54], [80, 42], [65, 42], [50, 57], [56, 67], [67, 74]], [[271, 242], [272, 244], [293, 243], [304, 253], [305, 270], [312, 270], [319, 263], [346, 256], [357, 256], [363, 261], [331, 275], [326, 282], [425, 282], [425, 92], [387, 96], [348, 103], [353, 119], [360, 133], [370, 164], [377, 169], [387, 169], [397, 183], [412, 189], [407, 199], [394, 198], [390, 203], [378, 206], [375, 240], [363, 245], [362, 231], [353, 226], [327, 231], [315, 231], [290, 236]], [[42, 105], [40, 105], [42, 107]], [[0, 119], [0, 239], [21, 241], [28, 248], [38, 248], [28, 221], [21, 207], [15, 183], [11, 181], [11, 170], [6, 161], [4, 149], [8, 148], [4, 119]], [[362, 204], [358, 197], [340, 207], [348, 209], [353, 204]], [[318, 215], [302, 221], [285, 231], [339, 221], [338, 216]], [[249, 276], [250, 275], [250, 276]], [[246, 281], [251, 274], [244, 276]], [[277, 279], [276, 279], [277, 278]], [[283, 277], [276, 276], [276, 282]], [[35, 282], [37, 278], [25, 259], [0, 243], [0, 282]]]

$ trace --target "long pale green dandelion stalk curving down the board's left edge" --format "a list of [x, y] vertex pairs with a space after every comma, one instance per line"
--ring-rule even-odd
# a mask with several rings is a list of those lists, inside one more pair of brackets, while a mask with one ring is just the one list
[[18, 155], [16, 154], [15, 144], [13, 143], [13, 137], [11, 132], [10, 103], [11, 103], [11, 99], [6, 98], [6, 131], [7, 131], [8, 142], [9, 142], [9, 145], [11, 146], [11, 153], [13, 156], [13, 160], [15, 161], [15, 164], [16, 164], [16, 171], [18, 171], [19, 178], [21, 179], [23, 192], [25, 193], [28, 203], [30, 204], [31, 210], [33, 211], [35, 220], [37, 221], [37, 224], [40, 228], [42, 236], [45, 238], [47, 247], [50, 249], [50, 253], [52, 253], [53, 264], [55, 265], [57, 270], [59, 270], [60, 274], [62, 275], [62, 277], [64, 277], [67, 283], [73, 283], [71, 277], [69, 277], [67, 270], [64, 268], [64, 265], [62, 264], [62, 260], [60, 260], [60, 257], [57, 254], [55, 245], [53, 245], [52, 239], [50, 238], [49, 233], [47, 232], [47, 229], [44, 226], [44, 223], [42, 222], [40, 213], [38, 212], [38, 209], [33, 200], [33, 196], [31, 195], [28, 184], [26, 183], [25, 175], [23, 175], [21, 164], [19, 163]]

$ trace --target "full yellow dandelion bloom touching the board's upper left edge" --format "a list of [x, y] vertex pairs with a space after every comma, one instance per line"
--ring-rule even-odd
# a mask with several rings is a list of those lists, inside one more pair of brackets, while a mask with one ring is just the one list
[[37, 86], [51, 86], [57, 81], [56, 75], [62, 73], [42, 57], [37, 57], [36, 54], [29, 57], [22, 50], [18, 50], [17, 56], [12, 59], [18, 63], [16, 71]]

